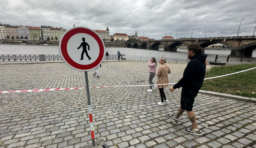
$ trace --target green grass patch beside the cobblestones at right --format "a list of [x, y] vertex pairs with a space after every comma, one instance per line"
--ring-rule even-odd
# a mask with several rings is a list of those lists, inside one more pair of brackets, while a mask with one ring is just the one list
[[[205, 73], [205, 78], [239, 72], [254, 67], [256, 67], [256, 63], [215, 66]], [[256, 69], [229, 76], [204, 80], [201, 90], [256, 98]]]

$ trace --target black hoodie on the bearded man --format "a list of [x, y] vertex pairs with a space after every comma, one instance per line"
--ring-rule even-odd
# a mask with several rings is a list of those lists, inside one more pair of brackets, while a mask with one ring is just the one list
[[207, 55], [194, 55], [191, 57], [184, 70], [183, 77], [173, 88], [184, 87], [186, 89], [200, 90], [205, 76], [205, 60]]

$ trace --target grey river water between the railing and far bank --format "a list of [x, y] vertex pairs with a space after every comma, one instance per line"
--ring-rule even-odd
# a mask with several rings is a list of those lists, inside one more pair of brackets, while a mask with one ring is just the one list
[[[177, 49], [177, 51], [163, 51], [136, 49], [136, 48], [122, 48], [122, 47], [106, 47], [106, 51], [110, 55], [117, 54], [120, 51], [122, 55], [139, 55], [151, 57], [168, 57], [168, 58], [187, 58], [186, 49]], [[227, 56], [230, 55], [230, 50], [205, 50], [208, 55], [207, 60], [215, 60], [215, 56], [219, 55], [218, 61], [226, 62]], [[0, 55], [59, 55], [59, 46], [51, 45], [10, 45], [0, 44]], [[256, 52], [253, 52], [253, 57], [244, 57], [240, 62], [241, 57], [230, 57], [227, 64], [242, 64], [242, 63], [256, 63]]]

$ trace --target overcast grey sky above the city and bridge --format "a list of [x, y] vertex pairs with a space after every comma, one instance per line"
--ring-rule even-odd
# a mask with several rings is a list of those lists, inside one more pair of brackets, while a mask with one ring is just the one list
[[[253, 35], [256, 0], [1, 0], [0, 23], [84, 26], [160, 39]], [[205, 27], [205, 28], [204, 28]], [[150, 34], [151, 33], [151, 34]]]

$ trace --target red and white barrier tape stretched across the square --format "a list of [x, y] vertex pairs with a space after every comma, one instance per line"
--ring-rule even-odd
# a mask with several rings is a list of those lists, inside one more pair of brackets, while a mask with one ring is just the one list
[[[245, 71], [252, 70], [252, 69], [255, 69], [255, 68], [256, 68], [256, 67], [251, 68], [251, 69], [247, 69], [247, 70], [243, 70], [243, 71], [239, 71], [239, 72], [235, 72], [235, 73], [231, 73], [231, 74], [226, 74], [226, 75], [221, 75], [221, 76], [216, 76], [216, 77], [211, 77], [211, 78], [205, 78], [204, 80], [213, 79], [213, 78], [218, 78], [218, 77], [224, 77], [224, 76], [228, 76], [228, 75], [232, 75], [232, 74], [237, 74], [237, 73], [245, 72]], [[169, 85], [169, 84], [176, 84], [176, 83], [155, 84], [155, 85]], [[154, 85], [123, 85], [123, 86], [89, 87], [89, 88], [134, 87], [134, 86], [154, 86]], [[86, 88], [86, 87], [73, 87], [73, 88], [51, 88], [51, 89], [30, 89], [30, 90], [7, 90], [7, 91], [0, 91], [0, 93], [12, 93], [12, 92], [36, 92], [36, 91], [56, 91], [56, 90], [85, 89], [85, 88]]]

